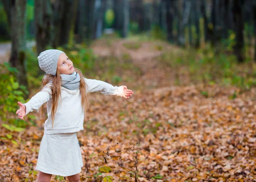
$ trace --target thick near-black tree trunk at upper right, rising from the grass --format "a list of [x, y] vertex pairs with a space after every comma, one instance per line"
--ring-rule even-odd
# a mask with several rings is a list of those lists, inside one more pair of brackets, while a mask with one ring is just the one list
[[236, 32], [236, 45], [234, 46], [234, 54], [236, 55], [239, 63], [244, 61], [243, 47], [244, 47], [244, 22], [242, 8], [244, 5], [244, 0], [234, 0], [233, 2], [233, 14], [234, 14], [234, 24]]

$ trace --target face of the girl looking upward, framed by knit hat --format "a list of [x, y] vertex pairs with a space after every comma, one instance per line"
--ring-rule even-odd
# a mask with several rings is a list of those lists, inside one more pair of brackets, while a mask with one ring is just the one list
[[75, 71], [73, 62], [68, 59], [67, 55], [64, 53], [58, 58], [57, 68], [58, 71], [60, 71], [60, 74], [73, 74]]

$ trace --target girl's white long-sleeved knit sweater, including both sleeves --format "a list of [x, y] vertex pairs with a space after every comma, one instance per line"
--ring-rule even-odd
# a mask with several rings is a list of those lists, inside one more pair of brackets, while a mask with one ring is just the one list
[[[89, 92], [99, 91], [104, 95], [116, 95], [122, 97], [122, 86], [113, 86], [107, 82], [100, 80], [92, 80], [84, 78], [88, 85]], [[40, 108], [45, 102], [47, 102], [47, 115], [48, 118], [44, 124], [45, 134], [61, 134], [61, 133], [73, 133], [84, 129], [84, 111], [81, 105], [80, 89], [69, 90], [61, 87], [61, 98], [58, 102], [57, 111], [54, 117], [54, 123], [52, 128], [52, 93], [51, 84], [47, 84], [42, 91], [39, 91], [33, 96], [26, 105], [26, 115]]]

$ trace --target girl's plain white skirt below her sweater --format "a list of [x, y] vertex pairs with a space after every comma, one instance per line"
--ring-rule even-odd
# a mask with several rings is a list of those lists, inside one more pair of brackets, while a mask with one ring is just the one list
[[38, 154], [36, 170], [58, 176], [81, 172], [83, 159], [76, 132], [44, 134]]

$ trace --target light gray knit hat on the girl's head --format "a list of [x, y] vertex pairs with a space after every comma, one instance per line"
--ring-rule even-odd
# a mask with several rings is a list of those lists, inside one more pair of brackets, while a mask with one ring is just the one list
[[48, 49], [38, 56], [39, 67], [47, 74], [56, 75], [58, 57], [64, 53], [57, 49]]

